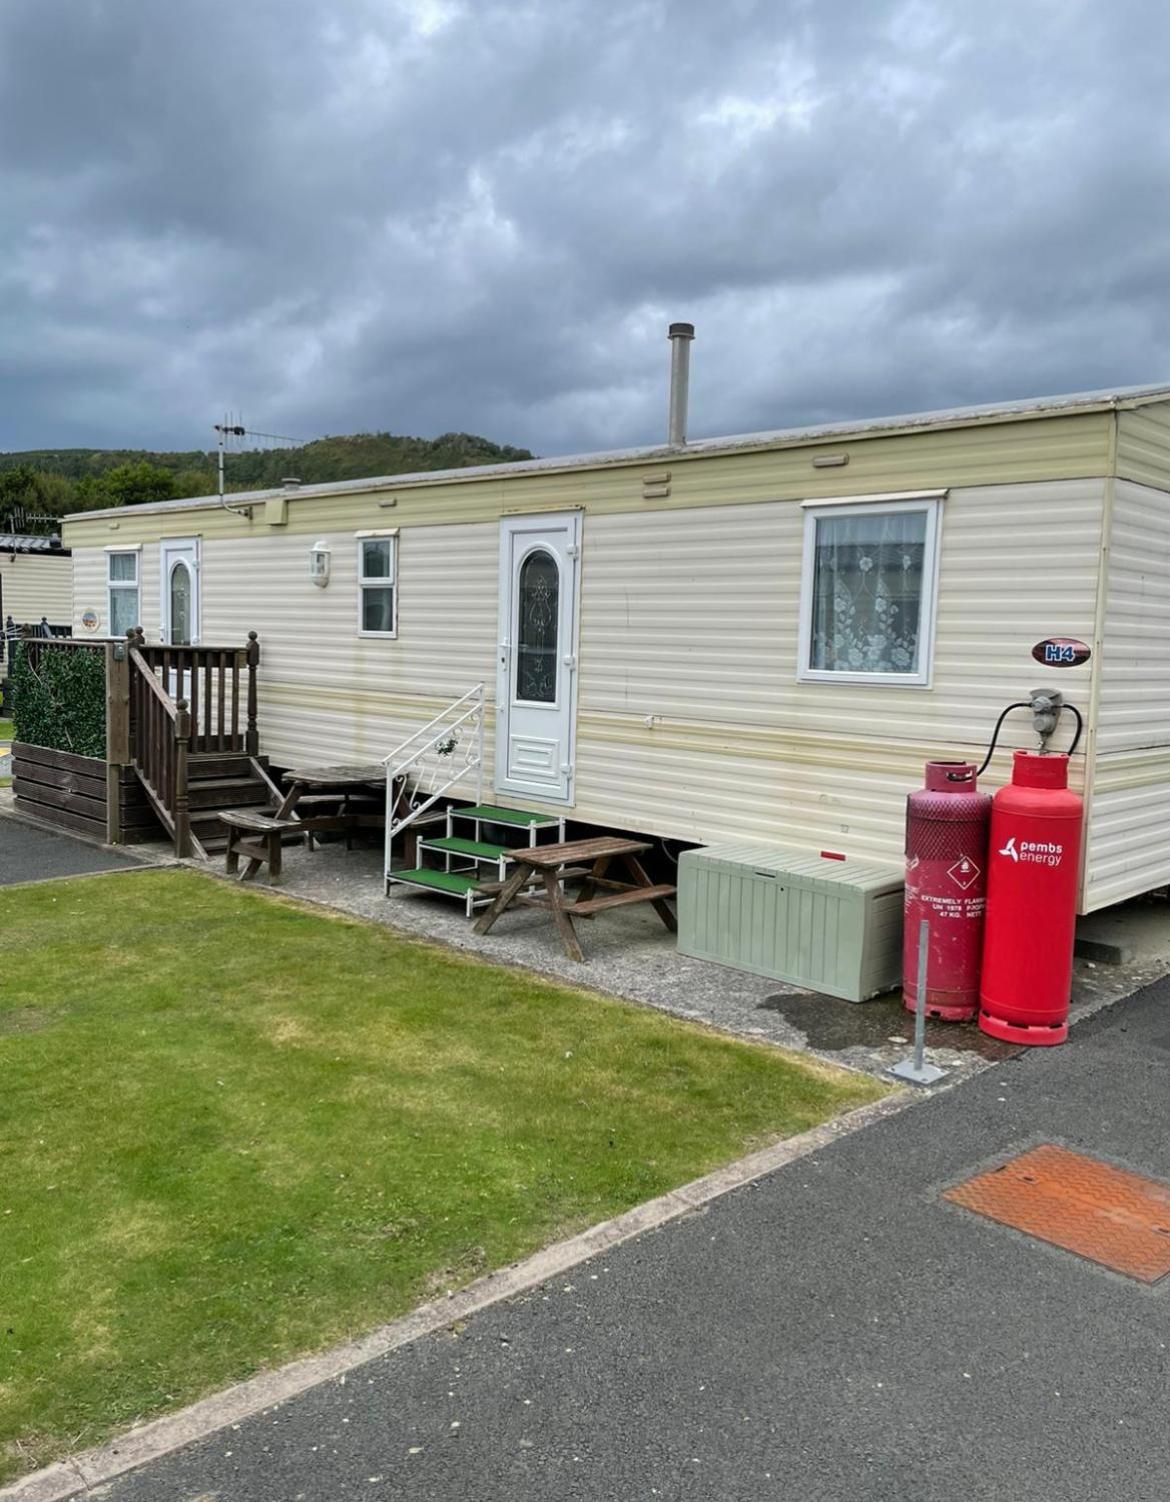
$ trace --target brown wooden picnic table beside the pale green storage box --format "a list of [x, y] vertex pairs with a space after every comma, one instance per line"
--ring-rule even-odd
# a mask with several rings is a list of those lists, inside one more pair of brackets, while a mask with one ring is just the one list
[[[511, 852], [515, 870], [500, 885], [496, 900], [475, 925], [475, 931], [490, 933], [500, 913], [509, 907], [541, 907], [553, 915], [565, 954], [571, 960], [583, 961], [574, 918], [592, 918], [607, 907], [625, 907], [629, 903], [652, 903], [670, 933], [676, 933], [674, 913], [667, 903], [676, 889], [655, 886], [638, 861], [638, 856], [649, 849], [644, 840], [622, 840], [616, 835], [518, 847]], [[608, 874], [614, 861], [625, 867], [629, 880], [616, 880]], [[584, 877], [581, 889], [568, 898], [563, 883], [575, 877]], [[526, 891], [538, 880], [544, 886], [544, 897]], [[593, 895], [598, 889], [602, 892], [601, 897]]]

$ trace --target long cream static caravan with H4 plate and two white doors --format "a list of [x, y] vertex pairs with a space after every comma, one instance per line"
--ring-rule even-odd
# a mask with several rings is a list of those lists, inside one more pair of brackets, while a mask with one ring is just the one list
[[[1081, 910], [1170, 882], [1170, 386], [673, 436], [75, 515], [74, 629], [257, 631], [276, 766], [384, 757], [482, 682], [496, 805], [891, 862], [924, 762], [1056, 688]], [[1009, 715], [990, 786], [1036, 743]]]

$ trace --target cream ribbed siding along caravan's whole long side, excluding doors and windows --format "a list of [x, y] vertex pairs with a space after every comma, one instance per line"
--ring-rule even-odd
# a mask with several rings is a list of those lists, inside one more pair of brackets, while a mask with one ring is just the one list
[[[1033, 643], [1092, 635], [1102, 490], [948, 493], [930, 688], [798, 682], [799, 499], [587, 514], [571, 816], [897, 861], [922, 763], [981, 759], [999, 710], [1053, 676]], [[308, 575], [318, 538], [332, 550], [326, 589]], [[494, 695], [499, 520], [401, 527], [398, 548], [398, 638], [380, 640], [357, 634], [353, 532], [203, 541], [203, 640], [260, 634], [261, 748], [275, 763], [380, 759], [475, 682]], [[105, 554], [75, 556], [86, 608]], [[158, 544], [143, 548], [143, 580], [155, 635]], [[1090, 671], [1060, 686], [1087, 703]], [[1030, 743], [1017, 716], [994, 772]]]

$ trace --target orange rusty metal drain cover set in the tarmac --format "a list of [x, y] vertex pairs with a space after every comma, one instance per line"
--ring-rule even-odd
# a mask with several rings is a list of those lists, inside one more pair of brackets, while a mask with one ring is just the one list
[[1141, 1283], [1170, 1272], [1170, 1184], [1068, 1148], [1033, 1148], [943, 1197]]

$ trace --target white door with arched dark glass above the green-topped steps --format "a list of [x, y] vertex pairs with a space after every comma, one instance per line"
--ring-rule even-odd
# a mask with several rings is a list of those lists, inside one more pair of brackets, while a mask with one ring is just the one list
[[500, 523], [496, 787], [572, 802], [581, 514]]

